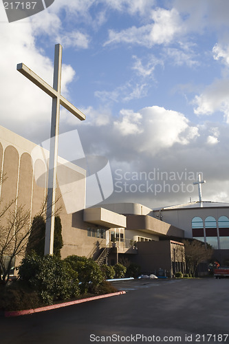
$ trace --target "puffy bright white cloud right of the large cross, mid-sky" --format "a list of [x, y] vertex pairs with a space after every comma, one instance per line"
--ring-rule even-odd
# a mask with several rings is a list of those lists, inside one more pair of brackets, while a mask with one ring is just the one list
[[197, 127], [190, 126], [183, 114], [163, 107], [145, 107], [138, 113], [122, 109], [120, 114], [122, 118], [114, 123], [116, 132], [128, 136], [129, 144], [139, 152], [155, 155], [175, 143], [189, 144], [199, 136]]

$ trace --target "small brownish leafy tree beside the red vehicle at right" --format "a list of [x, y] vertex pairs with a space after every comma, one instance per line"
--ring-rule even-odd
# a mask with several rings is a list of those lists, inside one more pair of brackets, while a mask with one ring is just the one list
[[213, 248], [209, 244], [205, 244], [202, 241], [196, 239], [185, 239], [183, 240], [186, 268], [188, 272], [195, 276], [197, 266], [200, 263], [209, 261], [213, 255]]

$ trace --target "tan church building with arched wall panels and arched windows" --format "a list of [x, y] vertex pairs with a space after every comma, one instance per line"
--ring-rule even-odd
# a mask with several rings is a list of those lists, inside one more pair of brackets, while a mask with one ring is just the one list
[[[45, 149], [0, 127], [0, 169], [6, 177], [0, 185], [1, 208], [15, 200], [11, 211], [24, 206], [32, 223], [47, 196], [48, 157]], [[229, 204], [192, 202], [153, 210], [119, 203], [87, 208], [85, 169], [59, 157], [57, 176], [62, 258], [79, 255], [109, 265], [129, 261], [139, 264], [142, 272], [164, 270], [173, 276], [185, 272], [182, 239], [192, 237], [212, 244], [221, 264], [229, 257]], [[7, 226], [6, 218], [1, 218], [1, 226]]]

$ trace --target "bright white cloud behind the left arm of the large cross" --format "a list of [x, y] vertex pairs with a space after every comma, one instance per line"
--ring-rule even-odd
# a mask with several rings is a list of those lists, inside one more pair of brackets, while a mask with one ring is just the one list
[[[36, 47], [30, 22], [6, 25], [0, 25], [1, 44], [5, 47], [0, 54], [1, 125], [30, 140], [42, 140], [50, 135], [52, 98], [19, 73], [17, 64], [24, 63], [52, 85], [53, 61]], [[63, 65], [63, 95], [74, 74], [71, 66]]]

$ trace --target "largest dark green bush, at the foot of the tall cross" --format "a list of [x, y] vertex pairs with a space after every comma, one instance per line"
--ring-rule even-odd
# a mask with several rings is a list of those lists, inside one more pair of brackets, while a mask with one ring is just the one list
[[71, 299], [79, 294], [78, 275], [65, 261], [55, 256], [24, 258], [19, 277], [34, 288], [45, 304]]

